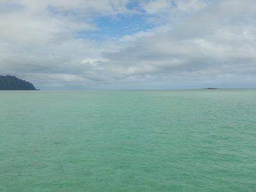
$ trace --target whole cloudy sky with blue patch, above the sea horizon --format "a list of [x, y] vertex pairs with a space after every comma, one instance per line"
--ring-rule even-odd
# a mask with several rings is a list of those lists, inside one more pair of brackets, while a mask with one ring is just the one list
[[256, 1], [0, 0], [0, 74], [40, 90], [256, 88]]

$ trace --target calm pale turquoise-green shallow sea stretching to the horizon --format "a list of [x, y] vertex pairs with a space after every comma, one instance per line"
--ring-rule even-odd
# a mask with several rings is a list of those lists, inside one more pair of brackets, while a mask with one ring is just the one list
[[256, 90], [0, 92], [0, 191], [256, 191]]

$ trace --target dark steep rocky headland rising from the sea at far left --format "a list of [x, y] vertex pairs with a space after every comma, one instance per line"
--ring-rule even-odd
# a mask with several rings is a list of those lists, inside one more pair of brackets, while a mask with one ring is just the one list
[[0, 76], [0, 90], [36, 90], [35, 86], [15, 76]]

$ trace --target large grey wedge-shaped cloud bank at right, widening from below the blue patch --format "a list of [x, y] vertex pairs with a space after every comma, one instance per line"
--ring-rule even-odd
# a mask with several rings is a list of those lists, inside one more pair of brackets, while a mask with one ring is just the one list
[[[179, 84], [205, 81], [225, 85], [239, 84], [241, 79], [236, 76], [243, 76], [247, 83], [255, 83], [256, 28], [248, 19], [255, 11], [248, 8], [250, 3], [222, 1], [214, 8], [195, 13], [175, 28], [141, 37], [131, 46], [105, 52], [104, 56], [112, 65], [115, 63], [116, 74], [136, 76], [134, 81], [147, 76], [168, 76], [165, 84], [169, 86], [173, 86], [173, 79], [179, 79]], [[230, 7], [236, 12], [226, 10]], [[243, 15], [237, 16], [238, 13]]]

